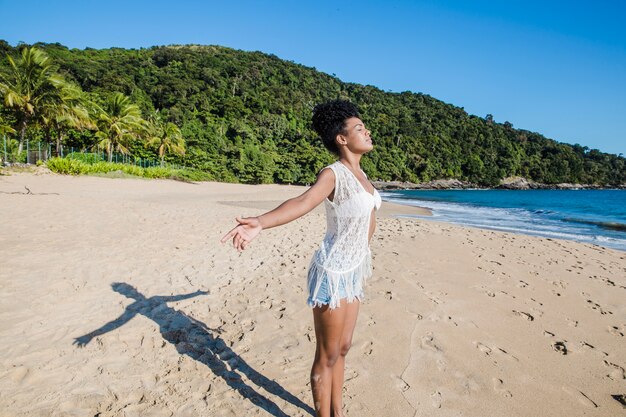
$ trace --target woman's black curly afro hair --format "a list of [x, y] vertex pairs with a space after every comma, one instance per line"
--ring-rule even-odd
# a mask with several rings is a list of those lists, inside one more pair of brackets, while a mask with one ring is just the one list
[[345, 122], [351, 117], [361, 116], [357, 107], [347, 100], [327, 101], [313, 109], [313, 129], [322, 138], [326, 149], [336, 155], [339, 155], [339, 148], [335, 138], [344, 132]]

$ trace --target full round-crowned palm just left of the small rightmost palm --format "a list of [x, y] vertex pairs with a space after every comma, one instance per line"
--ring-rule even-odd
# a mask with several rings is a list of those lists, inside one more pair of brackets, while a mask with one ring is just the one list
[[128, 154], [128, 142], [146, 131], [146, 122], [136, 104], [122, 93], [110, 96], [99, 109], [98, 145], [106, 149], [109, 162], [113, 152]]

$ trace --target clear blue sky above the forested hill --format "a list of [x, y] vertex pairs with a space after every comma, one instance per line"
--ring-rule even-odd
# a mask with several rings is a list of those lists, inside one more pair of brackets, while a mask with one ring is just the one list
[[0, 39], [223, 45], [626, 154], [626, 1], [0, 0]]

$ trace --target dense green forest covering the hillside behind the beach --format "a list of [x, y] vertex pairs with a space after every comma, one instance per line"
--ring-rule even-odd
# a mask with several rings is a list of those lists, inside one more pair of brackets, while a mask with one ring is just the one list
[[[86, 97], [83, 103], [91, 104], [82, 108], [95, 115], [72, 123], [57, 118], [61, 125], [46, 122], [37, 110], [26, 117], [28, 137], [58, 147], [100, 144], [200, 169], [223, 181], [310, 183], [333, 160], [310, 128], [311, 109], [339, 97], [359, 106], [373, 132], [376, 148], [362, 161], [370, 178], [457, 178], [487, 186], [509, 176], [548, 184], [626, 183], [622, 156], [559, 143], [496, 123], [490, 115], [469, 115], [425, 94], [344, 83], [273, 55], [218, 46], [36, 46], [54, 63], [51, 72], [74, 86], [66, 95]], [[0, 73], [10, 73], [7, 55], [17, 61], [19, 49], [0, 41]], [[121, 130], [113, 123], [122, 118], [114, 113], [116, 102], [137, 107]], [[0, 108], [0, 129], [15, 140], [24, 128], [20, 114], [6, 100]], [[158, 126], [146, 130], [144, 123], [157, 119]], [[116, 136], [117, 131], [123, 133]]]

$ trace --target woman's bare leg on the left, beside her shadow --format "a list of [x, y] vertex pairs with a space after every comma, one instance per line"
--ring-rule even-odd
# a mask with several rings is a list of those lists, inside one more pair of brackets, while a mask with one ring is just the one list
[[311, 368], [311, 390], [317, 417], [331, 417], [333, 368], [341, 356], [341, 340], [348, 309], [347, 303], [333, 310], [328, 306], [313, 308], [315, 324], [315, 360]]

